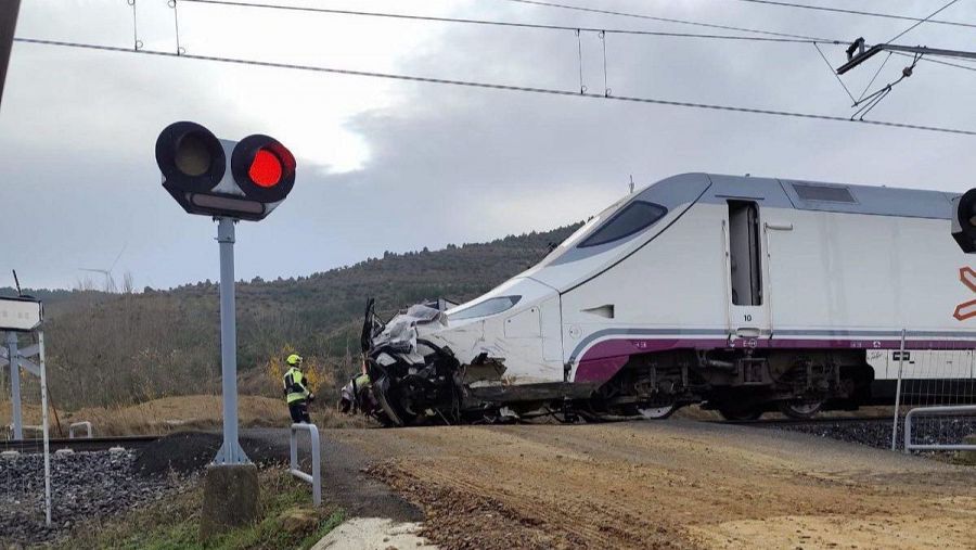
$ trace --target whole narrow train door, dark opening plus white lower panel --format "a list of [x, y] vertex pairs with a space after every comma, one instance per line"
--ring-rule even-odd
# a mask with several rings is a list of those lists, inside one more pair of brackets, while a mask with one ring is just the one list
[[729, 201], [725, 225], [725, 280], [729, 338], [756, 341], [769, 335], [762, 277], [762, 232], [755, 201]]

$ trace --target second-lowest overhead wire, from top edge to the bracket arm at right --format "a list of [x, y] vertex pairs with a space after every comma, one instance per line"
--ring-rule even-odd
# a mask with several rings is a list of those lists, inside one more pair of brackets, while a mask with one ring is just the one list
[[[253, 2], [234, 2], [230, 0], [179, 0], [180, 3], [195, 3], [195, 4], [214, 4], [221, 7], [235, 7], [235, 8], [255, 8], [262, 10], [280, 10], [280, 11], [291, 11], [291, 12], [306, 12], [306, 13], [321, 13], [321, 14], [330, 14], [330, 15], [351, 15], [351, 16], [362, 16], [362, 17], [381, 17], [381, 18], [391, 18], [391, 20], [407, 20], [407, 21], [425, 21], [425, 22], [438, 22], [438, 23], [461, 23], [468, 25], [485, 25], [485, 26], [498, 26], [498, 27], [514, 27], [514, 28], [526, 28], [526, 29], [543, 29], [543, 30], [572, 30], [572, 31], [590, 31], [590, 33], [604, 33], [607, 35], [640, 35], [640, 36], [657, 36], [657, 37], [673, 37], [673, 38], [703, 38], [703, 39], [717, 39], [717, 40], [747, 40], [747, 41], [758, 41], [758, 42], [788, 42], [788, 43], [810, 43], [812, 40], [808, 38], [770, 38], [770, 37], [750, 37], [750, 36], [733, 36], [733, 35], [703, 35], [703, 34], [691, 34], [691, 33], [665, 33], [665, 31], [656, 31], [656, 30], [640, 30], [640, 29], [624, 29], [624, 28], [605, 28], [605, 27], [586, 27], [586, 26], [569, 26], [569, 25], [544, 25], [538, 23], [519, 23], [519, 22], [509, 22], [509, 21], [493, 21], [493, 20], [473, 20], [465, 17], [438, 17], [433, 15], [409, 15], [402, 13], [385, 13], [385, 12], [365, 12], [358, 10], [334, 10], [331, 8], [311, 8], [311, 7], [300, 7], [300, 5], [282, 5], [282, 4], [270, 4], [270, 3], [253, 3]], [[842, 43], [839, 41], [823, 41], [824, 43]]]

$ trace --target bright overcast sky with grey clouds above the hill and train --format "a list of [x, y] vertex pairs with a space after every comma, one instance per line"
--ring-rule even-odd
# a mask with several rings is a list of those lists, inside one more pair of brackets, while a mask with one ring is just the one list
[[[804, 0], [850, 8], [837, 0]], [[274, 0], [300, 5], [299, 2]], [[911, 22], [737, 0], [564, 0], [646, 15], [883, 42]], [[942, 0], [859, 9], [924, 16]], [[680, 33], [737, 34], [504, 0], [307, 1], [407, 14]], [[143, 48], [176, 48], [166, 0], [138, 0]], [[976, 1], [939, 18], [976, 23]], [[532, 30], [179, 4], [188, 53], [574, 90], [577, 38]], [[22, 0], [17, 36], [132, 46], [124, 0]], [[906, 44], [973, 49], [973, 29], [924, 24]], [[616, 95], [849, 116], [810, 44], [606, 38]], [[599, 36], [581, 36], [583, 80], [603, 89]], [[844, 47], [825, 46], [836, 66]], [[884, 61], [845, 76], [857, 95]], [[894, 56], [874, 87], [910, 62]], [[963, 62], [964, 63], [964, 62]], [[976, 130], [976, 72], [922, 62], [869, 118]], [[237, 277], [303, 276], [384, 251], [545, 230], [684, 171], [965, 191], [976, 137], [586, 98], [399, 82], [194, 60], [15, 43], [0, 107], [0, 285], [70, 287], [130, 271], [141, 289], [216, 280], [216, 226], [159, 186], [153, 146], [190, 119], [217, 136], [274, 136], [298, 158], [295, 189], [241, 223]]]

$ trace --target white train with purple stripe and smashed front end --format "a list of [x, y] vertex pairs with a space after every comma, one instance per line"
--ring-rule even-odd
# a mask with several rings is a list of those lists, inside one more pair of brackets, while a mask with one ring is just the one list
[[388, 323], [370, 308], [372, 385], [347, 397], [397, 425], [666, 417], [692, 402], [729, 419], [806, 417], [889, 401], [890, 356], [869, 351], [897, 350], [902, 335], [907, 349], [976, 346], [976, 272], [950, 235], [953, 196], [673, 176], [472, 302]]

